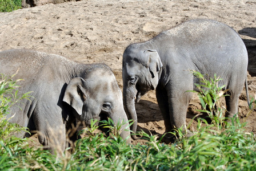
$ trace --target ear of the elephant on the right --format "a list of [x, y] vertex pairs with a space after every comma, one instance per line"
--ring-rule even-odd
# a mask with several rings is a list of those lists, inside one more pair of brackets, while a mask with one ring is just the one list
[[149, 67], [152, 78], [154, 78], [163, 66], [160, 56], [156, 50], [146, 50], [144, 53], [149, 56], [146, 67]]

